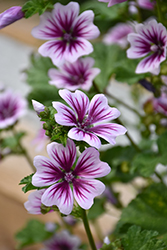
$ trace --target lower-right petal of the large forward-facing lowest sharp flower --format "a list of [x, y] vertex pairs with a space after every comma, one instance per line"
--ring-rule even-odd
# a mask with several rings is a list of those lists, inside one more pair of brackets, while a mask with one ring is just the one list
[[105, 185], [98, 180], [75, 179], [73, 182], [74, 198], [83, 209], [93, 205], [93, 199], [105, 190]]

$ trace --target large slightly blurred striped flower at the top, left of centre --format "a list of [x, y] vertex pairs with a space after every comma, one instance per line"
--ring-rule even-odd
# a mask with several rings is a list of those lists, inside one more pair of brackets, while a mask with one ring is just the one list
[[52, 12], [40, 16], [40, 24], [32, 30], [34, 37], [51, 40], [38, 51], [42, 56], [49, 56], [57, 66], [65, 60], [73, 63], [80, 56], [90, 54], [93, 46], [87, 39], [95, 39], [100, 34], [93, 24], [94, 14], [91, 10], [78, 14], [78, 3], [70, 2], [66, 6], [56, 3]]

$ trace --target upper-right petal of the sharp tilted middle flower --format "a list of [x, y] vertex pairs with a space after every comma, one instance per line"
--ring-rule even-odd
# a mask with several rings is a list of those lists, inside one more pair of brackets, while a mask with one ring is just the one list
[[96, 122], [110, 121], [119, 115], [118, 109], [109, 107], [105, 95], [98, 94], [90, 102], [87, 121], [89, 124], [94, 124]]

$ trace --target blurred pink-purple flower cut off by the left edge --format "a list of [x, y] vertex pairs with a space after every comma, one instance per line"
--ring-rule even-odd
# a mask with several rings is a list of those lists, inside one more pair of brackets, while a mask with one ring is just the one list
[[0, 93], [0, 129], [14, 125], [25, 114], [27, 102], [7, 89]]

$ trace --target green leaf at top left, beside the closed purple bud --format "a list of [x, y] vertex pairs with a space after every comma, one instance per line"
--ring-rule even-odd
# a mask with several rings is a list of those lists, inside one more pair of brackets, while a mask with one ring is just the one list
[[29, 0], [23, 5], [22, 11], [25, 13], [25, 18], [29, 18], [36, 13], [41, 15], [47, 9], [52, 8], [53, 4], [50, 0]]

